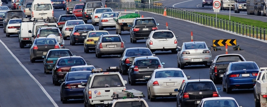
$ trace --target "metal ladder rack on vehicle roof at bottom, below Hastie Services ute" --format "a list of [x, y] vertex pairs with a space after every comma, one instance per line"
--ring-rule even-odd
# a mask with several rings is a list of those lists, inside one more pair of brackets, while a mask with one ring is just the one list
[[113, 99], [127, 99], [127, 98], [142, 98], [145, 97], [143, 92], [129, 89], [129, 90], [122, 90], [122, 92], [114, 92], [111, 96]]

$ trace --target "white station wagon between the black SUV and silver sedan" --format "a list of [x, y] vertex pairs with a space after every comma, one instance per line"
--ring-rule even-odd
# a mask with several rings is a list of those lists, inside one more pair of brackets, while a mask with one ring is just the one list
[[157, 29], [149, 34], [145, 42], [146, 48], [149, 48], [152, 53], [157, 50], [171, 50], [172, 53], [177, 53], [176, 49], [178, 42], [176, 38], [178, 38], [178, 36], [175, 36], [174, 33], [169, 29]]

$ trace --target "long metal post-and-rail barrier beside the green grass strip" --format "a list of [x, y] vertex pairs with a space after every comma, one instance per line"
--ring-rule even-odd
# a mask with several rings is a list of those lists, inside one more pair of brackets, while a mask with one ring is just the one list
[[[238, 23], [234, 21], [229, 21], [226, 19], [210, 17], [194, 12], [184, 11], [176, 8], [168, 8], [165, 6], [157, 6], [148, 3], [134, 3], [134, 2], [111, 2], [112, 0], [106, 0], [106, 5], [108, 8], [112, 9], [129, 9], [129, 10], [140, 10], [145, 12], [153, 12], [158, 14], [163, 14], [166, 8], [166, 15], [174, 18], [179, 18], [183, 20], [192, 21], [195, 23], [200, 23], [206, 26], [211, 26], [214, 28], [220, 28], [229, 32], [236, 32], [237, 34], [242, 34], [244, 36], [249, 36], [252, 38], [265, 39], [265, 28], [259, 28], [243, 23]], [[216, 24], [217, 23], [217, 24]]]

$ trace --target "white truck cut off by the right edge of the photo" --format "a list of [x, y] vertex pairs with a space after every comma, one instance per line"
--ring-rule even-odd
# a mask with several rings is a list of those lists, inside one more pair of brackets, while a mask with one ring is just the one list
[[267, 74], [267, 67], [260, 68], [257, 78], [252, 80], [253, 82], [256, 82], [254, 86], [255, 107], [267, 106], [266, 74]]

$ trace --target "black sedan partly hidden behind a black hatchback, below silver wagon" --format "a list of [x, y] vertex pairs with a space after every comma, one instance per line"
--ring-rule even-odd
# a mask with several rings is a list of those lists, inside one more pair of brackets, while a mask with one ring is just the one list
[[119, 60], [120, 73], [126, 75], [135, 57], [155, 56], [149, 48], [127, 48]]

